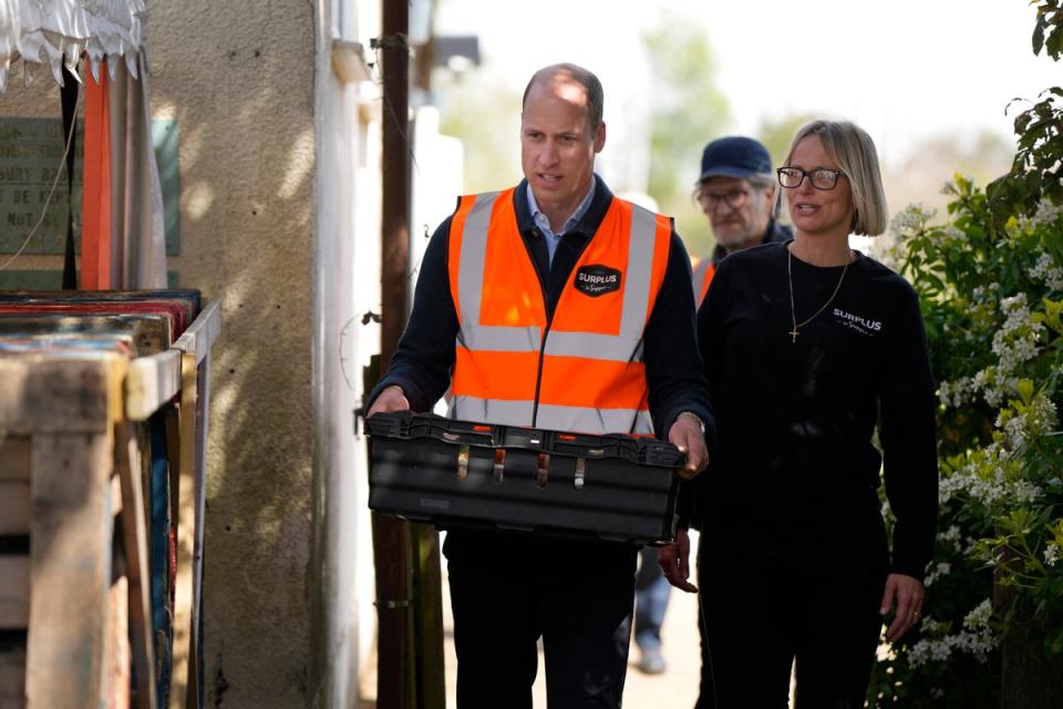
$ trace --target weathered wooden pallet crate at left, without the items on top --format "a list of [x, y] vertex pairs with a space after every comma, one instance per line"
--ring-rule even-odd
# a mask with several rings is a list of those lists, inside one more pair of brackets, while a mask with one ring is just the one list
[[162, 701], [198, 706], [202, 446], [219, 325], [219, 309], [208, 307], [186, 337], [151, 357], [0, 353], [0, 707], [159, 705], [137, 430], [157, 411], [178, 436], [169, 446], [177, 567]]

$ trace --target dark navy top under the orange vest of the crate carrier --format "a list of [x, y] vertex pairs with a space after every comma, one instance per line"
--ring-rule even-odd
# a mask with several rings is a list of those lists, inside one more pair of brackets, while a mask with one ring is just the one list
[[[587, 213], [561, 237], [553, 263], [528, 209], [527, 181], [520, 182], [514, 195], [517, 226], [547, 294], [547, 318], [554, 317], [572, 267], [612, 203], [612, 193], [606, 183], [597, 175], [595, 179], [598, 181], [595, 196]], [[413, 312], [386, 376], [370, 393], [367, 409], [385, 387], [399, 384], [414, 411], [429, 411], [450, 386], [458, 331], [447, 271], [452, 218], [440, 225], [429, 243], [417, 277]], [[690, 411], [705, 422], [705, 442], [711, 452], [715, 429], [698, 354], [690, 257], [674, 229], [664, 280], [643, 333], [643, 361], [650, 389], [650, 414], [658, 438], [667, 438], [675, 418]]]

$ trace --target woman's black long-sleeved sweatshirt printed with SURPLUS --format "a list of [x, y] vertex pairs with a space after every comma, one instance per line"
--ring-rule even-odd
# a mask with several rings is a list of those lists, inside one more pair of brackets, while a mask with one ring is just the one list
[[922, 578], [938, 475], [918, 298], [904, 278], [856, 253], [830, 300], [843, 267], [793, 258], [797, 323], [829, 301], [795, 342], [787, 246], [730, 255], [699, 311], [719, 435], [710, 469], [684, 490], [699, 495], [702, 544], [710, 553], [819, 558], [880, 547], [883, 470], [897, 517], [891, 571]]

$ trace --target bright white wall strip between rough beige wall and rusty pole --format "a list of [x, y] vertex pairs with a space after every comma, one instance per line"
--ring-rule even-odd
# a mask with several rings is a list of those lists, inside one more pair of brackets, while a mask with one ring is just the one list
[[[362, 699], [360, 679], [375, 670], [376, 618], [365, 439], [354, 434], [364, 395], [362, 370], [380, 351], [380, 92], [333, 70], [333, 40], [369, 48], [379, 3], [319, 0], [316, 114], [316, 553], [320, 604], [314, 706]], [[350, 55], [349, 55], [350, 58]]]

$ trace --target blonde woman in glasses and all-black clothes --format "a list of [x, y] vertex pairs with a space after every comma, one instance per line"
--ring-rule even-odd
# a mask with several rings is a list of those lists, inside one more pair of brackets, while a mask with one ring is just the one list
[[[698, 501], [699, 706], [785, 707], [796, 660], [799, 707], [863, 707], [884, 617], [896, 640], [921, 614], [935, 384], [911, 286], [849, 247], [887, 226], [870, 136], [815, 121], [776, 173], [794, 238], [724, 259], [699, 311], [719, 431]], [[684, 542], [662, 552], [680, 587]]]

